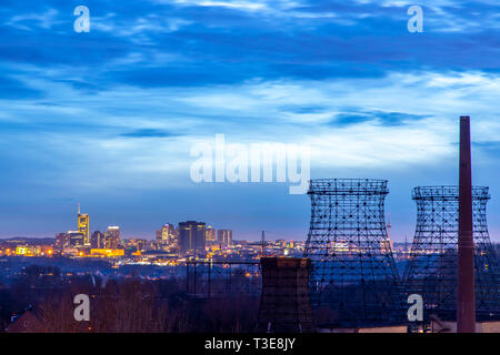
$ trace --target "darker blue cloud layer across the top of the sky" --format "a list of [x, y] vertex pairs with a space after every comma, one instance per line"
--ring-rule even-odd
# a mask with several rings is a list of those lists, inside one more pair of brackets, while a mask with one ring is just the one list
[[[438, 10], [429, 2], [421, 34], [408, 33], [401, 2], [262, 0], [252, 2], [261, 6], [259, 11], [238, 10], [246, 3], [89, 4], [90, 33], [74, 33], [72, 14], [57, 2], [12, 3], [1, 13], [8, 20], [0, 26], [4, 39], [0, 64], [29, 63], [44, 70], [66, 64], [71, 77], [86, 77], [64, 78], [82, 90], [382, 78], [392, 71], [494, 71], [498, 67], [494, 33], [500, 22], [491, 2], [439, 1]], [[477, 14], [463, 14], [464, 7]], [[467, 28], [446, 32], [447, 19]], [[16, 26], [28, 26], [29, 36]]]

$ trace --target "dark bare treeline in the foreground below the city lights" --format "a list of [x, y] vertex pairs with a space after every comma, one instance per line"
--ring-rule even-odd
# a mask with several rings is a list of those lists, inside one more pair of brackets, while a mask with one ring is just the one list
[[[28, 266], [16, 282], [0, 284], [1, 332], [252, 332], [259, 297], [192, 300], [184, 280], [72, 276], [57, 267]], [[77, 322], [73, 297], [90, 297], [90, 321]], [[27, 314], [30, 320], [26, 322]], [[17, 317], [18, 316], [18, 317]], [[23, 318], [24, 317], [24, 318]], [[13, 321], [13, 322], [12, 322]]]

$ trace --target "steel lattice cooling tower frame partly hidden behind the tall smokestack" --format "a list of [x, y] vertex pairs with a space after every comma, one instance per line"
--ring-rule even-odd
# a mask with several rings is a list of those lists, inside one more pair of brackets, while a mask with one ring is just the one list
[[[499, 265], [488, 234], [488, 187], [472, 189], [477, 321], [500, 316]], [[457, 317], [458, 186], [413, 190], [417, 231], [404, 272], [407, 294], [423, 297], [424, 315]]]

